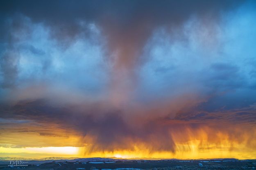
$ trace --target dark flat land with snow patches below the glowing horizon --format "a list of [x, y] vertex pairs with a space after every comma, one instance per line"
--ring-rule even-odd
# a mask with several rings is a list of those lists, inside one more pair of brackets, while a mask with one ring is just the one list
[[45, 161], [1, 160], [1, 170], [254, 170], [256, 160], [123, 160], [109, 158], [61, 159]]

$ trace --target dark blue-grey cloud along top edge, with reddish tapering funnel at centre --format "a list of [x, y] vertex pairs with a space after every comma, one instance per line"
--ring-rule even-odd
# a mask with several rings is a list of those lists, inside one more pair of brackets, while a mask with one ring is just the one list
[[[218, 20], [222, 11], [232, 9], [243, 1], [2, 1], [2, 18], [23, 15], [36, 23], [44, 23], [53, 37], [66, 42], [81, 32], [83, 22], [95, 22], [109, 40], [110, 51], [118, 51], [118, 66], [131, 67], [139, 62], [145, 42], [157, 27], [178, 28], [192, 15]], [[15, 19], [15, 18], [14, 18]], [[18, 20], [17, 20], [18, 19]], [[16, 18], [17, 24], [23, 22]], [[2, 34], [10, 33], [7, 27]], [[14, 28], [15, 29], [15, 28]], [[18, 27], [16, 28], [18, 29]], [[86, 34], [89, 36], [90, 34]]]

